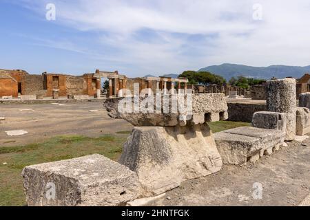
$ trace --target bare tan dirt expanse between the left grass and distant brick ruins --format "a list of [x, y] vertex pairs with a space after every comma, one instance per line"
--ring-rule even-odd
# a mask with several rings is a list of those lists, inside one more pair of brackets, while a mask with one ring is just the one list
[[[132, 125], [124, 120], [110, 118], [102, 102], [6, 104], [0, 105], [0, 117], [6, 118], [0, 124], [0, 146], [32, 144], [56, 135], [98, 137], [132, 130]], [[6, 135], [5, 131], [12, 130], [25, 130], [28, 134]]]

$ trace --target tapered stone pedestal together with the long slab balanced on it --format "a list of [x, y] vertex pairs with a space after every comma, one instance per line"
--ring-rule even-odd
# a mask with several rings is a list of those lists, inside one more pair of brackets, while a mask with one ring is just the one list
[[[228, 118], [225, 95], [191, 96], [191, 114], [171, 113], [173, 96], [169, 96], [167, 113], [163, 109], [161, 113], [125, 113], [118, 111], [121, 99], [105, 102], [110, 116], [123, 118], [136, 126], [123, 146], [119, 162], [137, 173], [145, 197], [176, 188], [187, 179], [216, 173], [222, 167], [207, 122]], [[138, 100], [143, 102], [145, 98]], [[132, 106], [132, 102], [128, 106]]]

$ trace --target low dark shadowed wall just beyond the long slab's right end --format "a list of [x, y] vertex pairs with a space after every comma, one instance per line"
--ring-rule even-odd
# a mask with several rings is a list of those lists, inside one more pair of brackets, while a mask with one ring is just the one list
[[256, 111], [267, 111], [266, 104], [227, 103], [228, 120], [233, 122], [251, 122]]

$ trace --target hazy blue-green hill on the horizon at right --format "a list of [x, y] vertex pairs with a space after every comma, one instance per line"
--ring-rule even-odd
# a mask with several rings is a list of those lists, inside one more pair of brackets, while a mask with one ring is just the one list
[[307, 67], [295, 67], [285, 65], [272, 65], [269, 67], [251, 67], [246, 65], [237, 65], [225, 63], [222, 65], [214, 65], [199, 69], [199, 71], [207, 71], [212, 74], [218, 74], [229, 80], [231, 77], [246, 76], [251, 78], [269, 79], [273, 76], [276, 78], [285, 78], [291, 76], [300, 78], [306, 73], [310, 73], [310, 65]]

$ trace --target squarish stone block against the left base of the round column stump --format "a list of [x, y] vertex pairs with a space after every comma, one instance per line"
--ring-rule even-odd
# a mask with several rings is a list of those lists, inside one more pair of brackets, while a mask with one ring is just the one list
[[254, 113], [252, 126], [260, 129], [287, 130], [287, 114], [272, 111], [258, 111]]

